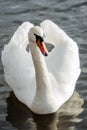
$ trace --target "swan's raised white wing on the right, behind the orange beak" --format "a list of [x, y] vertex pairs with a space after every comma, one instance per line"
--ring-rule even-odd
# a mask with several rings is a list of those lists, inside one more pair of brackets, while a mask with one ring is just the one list
[[59, 92], [57, 95], [61, 94], [65, 101], [72, 95], [80, 74], [78, 46], [52, 21], [45, 20], [40, 25], [46, 36], [45, 42], [55, 46], [46, 57], [46, 63], [51, 77], [57, 83], [55, 92]]

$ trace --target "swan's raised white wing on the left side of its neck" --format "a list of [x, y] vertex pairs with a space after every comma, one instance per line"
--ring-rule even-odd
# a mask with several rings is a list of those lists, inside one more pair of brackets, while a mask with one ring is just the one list
[[28, 32], [32, 26], [29, 22], [19, 26], [10, 42], [5, 45], [1, 57], [6, 82], [18, 99], [29, 107], [35, 94], [33, 62], [30, 53], [26, 51]]

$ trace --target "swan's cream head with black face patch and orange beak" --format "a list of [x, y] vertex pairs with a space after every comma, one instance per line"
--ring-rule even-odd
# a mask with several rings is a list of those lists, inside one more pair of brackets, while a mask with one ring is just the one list
[[37, 47], [39, 47], [41, 53], [44, 56], [48, 55], [48, 50], [44, 43], [44, 33], [40, 26], [34, 26], [30, 29], [29, 40], [32, 41], [32, 43], [36, 44]]

